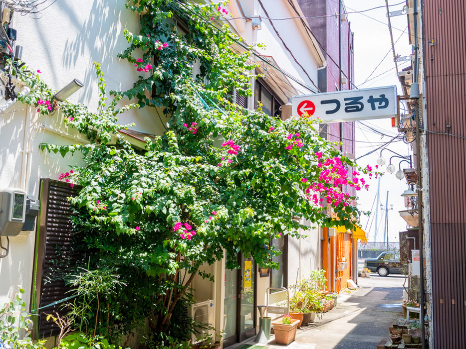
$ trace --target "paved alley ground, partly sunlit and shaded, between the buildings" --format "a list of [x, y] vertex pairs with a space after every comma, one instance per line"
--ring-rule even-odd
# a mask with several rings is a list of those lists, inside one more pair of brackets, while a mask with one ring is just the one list
[[374, 273], [370, 278], [359, 278], [359, 289], [342, 292], [337, 307], [298, 329], [296, 340], [289, 346], [276, 345], [273, 338], [267, 344], [247, 344], [269, 349], [375, 349], [381, 339], [388, 339], [392, 322], [403, 317], [404, 280], [400, 275], [381, 277]]

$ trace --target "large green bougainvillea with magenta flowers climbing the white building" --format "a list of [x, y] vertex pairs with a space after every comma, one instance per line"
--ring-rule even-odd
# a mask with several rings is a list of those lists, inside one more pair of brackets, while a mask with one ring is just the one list
[[[166, 343], [167, 334], [188, 339], [171, 327], [172, 314], [196, 274], [213, 278], [202, 265], [226, 251], [229, 267], [238, 252], [276, 267], [271, 257], [279, 252], [270, 241], [308, 229], [299, 219], [353, 228], [360, 212], [344, 188], [366, 187], [363, 174], [372, 176], [372, 169], [342, 156], [311, 118], [282, 121], [234, 104], [233, 91], [251, 95], [254, 48], [219, 24], [227, 15], [222, 4], [139, 0], [127, 7], [139, 14], [141, 29], [124, 31], [129, 47], [120, 57], [138, 80], [111, 92], [107, 105], [96, 63], [97, 112], [58, 106], [90, 144], [42, 149], [83, 155], [85, 165], [63, 169], [62, 178], [82, 187], [70, 200], [86, 267], [110, 268], [131, 285], [100, 299], [99, 333], [129, 334], [148, 318], [152, 339]], [[22, 101], [48, 113], [44, 101], [53, 93], [25, 69], [18, 74], [35, 90]], [[126, 99], [134, 104], [121, 107]], [[169, 117], [163, 136], [148, 139], [144, 149], [119, 132], [130, 125], [119, 125], [118, 115], [135, 107], [151, 108], [154, 120], [157, 113]], [[357, 170], [348, 173], [351, 167]]]

